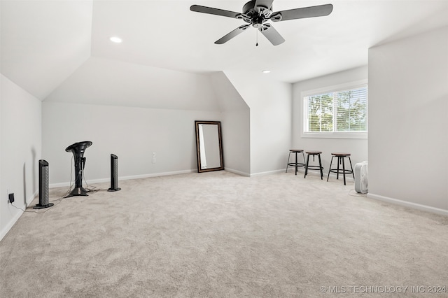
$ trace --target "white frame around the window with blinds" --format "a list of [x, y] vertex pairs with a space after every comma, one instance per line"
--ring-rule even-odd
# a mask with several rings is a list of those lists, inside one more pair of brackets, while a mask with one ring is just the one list
[[[368, 118], [367, 118], [367, 132], [305, 132], [305, 127], [308, 122], [308, 102], [306, 97], [316, 94], [338, 92], [344, 90], [357, 89], [360, 87], [367, 87], [367, 80], [358, 80], [341, 85], [332, 85], [322, 87], [314, 90], [307, 90], [300, 93], [300, 99], [302, 100], [302, 138], [320, 138], [320, 139], [367, 139], [368, 137]], [[367, 109], [368, 109], [368, 89], [367, 89]], [[368, 116], [368, 110], [367, 110]]]

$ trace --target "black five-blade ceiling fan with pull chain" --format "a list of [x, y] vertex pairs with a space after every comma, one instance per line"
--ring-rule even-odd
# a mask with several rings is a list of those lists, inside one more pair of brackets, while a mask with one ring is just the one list
[[281, 22], [303, 19], [305, 17], [322, 17], [329, 15], [333, 10], [332, 4], [325, 4], [272, 12], [273, 1], [274, 0], [248, 1], [243, 6], [243, 13], [236, 13], [230, 10], [200, 5], [193, 5], [190, 7], [190, 10], [197, 13], [209, 13], [211, 15], [222, 15], [223, 17], [235, 17], [236, 19], [244, 20], [244, 22], [248, 23], [239, 26], [237, 29], [230, 31], [230, 33], [219, 38], [215, 41], [216, 44], [223, 44], [230, 41], [230, 39], [234, 38], [252, 25], [252, 27], [258, 29], [273, 45], [279, 45], [285, 40], [279, 32], [272, 27], [271, 24], [267, 23], [268, 20], [271, 20], [272, 22]]

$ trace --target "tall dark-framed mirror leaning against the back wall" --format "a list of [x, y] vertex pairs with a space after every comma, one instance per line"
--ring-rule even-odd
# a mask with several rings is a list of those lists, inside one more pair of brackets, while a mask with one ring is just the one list
[[197, 172], [224, 169], [220, 121], [195, 121]]

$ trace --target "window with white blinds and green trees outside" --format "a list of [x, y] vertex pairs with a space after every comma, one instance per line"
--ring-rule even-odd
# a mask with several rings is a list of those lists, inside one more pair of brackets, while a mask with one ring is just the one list
[[304, 136], [367, 136], [367, 85], [307, 92]]

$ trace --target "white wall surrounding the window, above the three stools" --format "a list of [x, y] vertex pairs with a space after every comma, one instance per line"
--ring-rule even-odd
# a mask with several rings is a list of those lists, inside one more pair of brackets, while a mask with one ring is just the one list
[[[367, 66], [304, 80], [293, 85], [293, 147], [303, 150], [322, 151], [321, 159], [324, 168], [323, 171], [326, 173], [328, 173], [330, 167], [332, 152], [351, 153], [353, 169], [356, 163], [367, 160], [367, 139], [317, 139], [302, 137], [303, 99], [301, 93], [322, 87], [343, 85], [359, 80], [367, 80]], [[285, 153], [288, 155], [288, 152]]]

